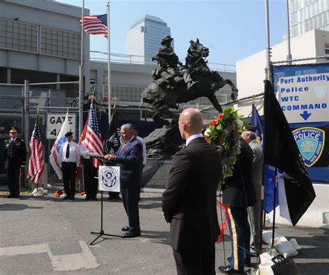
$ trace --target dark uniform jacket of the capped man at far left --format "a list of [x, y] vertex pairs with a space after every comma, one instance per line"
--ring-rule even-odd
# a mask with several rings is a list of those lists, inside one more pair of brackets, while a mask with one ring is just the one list
[[13, 144], [10, 139], [5, 140], [3, 161], [5, 162], [6, 169], [26, 165], [26, 146], [24, 140], [16, 138]]

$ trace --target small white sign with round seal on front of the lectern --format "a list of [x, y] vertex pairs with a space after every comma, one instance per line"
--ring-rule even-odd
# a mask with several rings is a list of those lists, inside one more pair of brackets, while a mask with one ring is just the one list
[[120, 167], [99, 167], [99, 190], [120, 192]]

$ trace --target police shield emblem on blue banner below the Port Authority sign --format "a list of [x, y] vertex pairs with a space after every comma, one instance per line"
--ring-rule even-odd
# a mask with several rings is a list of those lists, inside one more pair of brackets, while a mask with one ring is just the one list
[[314, 165], [324, 148], [325, 132], [319, 128], [303, 127], [292, 131], [307, 167]]

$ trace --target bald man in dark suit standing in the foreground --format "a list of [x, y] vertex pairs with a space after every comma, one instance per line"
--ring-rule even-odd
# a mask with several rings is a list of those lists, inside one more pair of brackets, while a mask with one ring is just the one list
[[221, 160], [201, 133], [199, 110], [187, 108], [178, 127], [186, 148], [171, 163], [162, 210], [171, 223], [171, 247], [178, 274], [215, 274], [214, 243], [219, 235], [216, 196]]

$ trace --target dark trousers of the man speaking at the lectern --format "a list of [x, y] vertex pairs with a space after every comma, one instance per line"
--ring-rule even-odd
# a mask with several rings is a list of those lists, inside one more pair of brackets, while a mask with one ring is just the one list
[[121, 188], [122, 201], [124, 209], [128, 215], [129, 232], [133, 234], [140, 233], [140, 213], [138, 210], [138, 202], [140, 200], [140, 185]]

